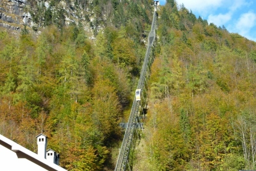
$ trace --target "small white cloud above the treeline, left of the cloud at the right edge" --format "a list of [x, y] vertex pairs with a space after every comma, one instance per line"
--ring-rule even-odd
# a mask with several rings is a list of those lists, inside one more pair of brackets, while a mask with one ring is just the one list
[[226, 14], [218, 14], [218, 15], [212, 15], [212, 14], [210, 14], [210, 15], [208, 16], [207, 21], [208, 21], [209, 24], [210, 24], [210, 23], [214, 23], [214, 24], [217, 25], [217, 26], [223, 26], [223, 25], [225, 25], [227, 22], [230, 21], [231, 17], [232, 17], [232, 13], [230, 13], [230, 12], [229, 12], [229, 13], [226, 13]]

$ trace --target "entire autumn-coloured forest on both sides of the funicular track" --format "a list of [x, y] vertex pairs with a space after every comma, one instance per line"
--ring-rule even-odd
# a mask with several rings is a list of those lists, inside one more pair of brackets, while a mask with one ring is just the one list
[[[28, 4], [35, 27], [0, 28], [0, 134], [36, 152], [42, 132], [61, 167], [113, 170], [153, 1]], [[67, 23], [69, 9], [78, 22]], [[256, 43], [174, 0], [159, 6], [157, 23], [144, 156], [135, 151], [134, 168], [256, 169]]]

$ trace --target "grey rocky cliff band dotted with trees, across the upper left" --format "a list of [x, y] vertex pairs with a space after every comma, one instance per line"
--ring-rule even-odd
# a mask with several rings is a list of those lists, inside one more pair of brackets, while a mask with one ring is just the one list
[[79, 23], [91, 35], [89, 38], [94, 39], [93, 33], [98, 32], [102, 24], [95, 26], [98, 16], [93, 12], [92, 0], [85, 1], [84, 6], [74, 2], [56, 1], [53, 4], [54, 1], [0, 0], [0, 27], [20, 32], [25, 26], [32, 31], [50, 24], [63, 27]]

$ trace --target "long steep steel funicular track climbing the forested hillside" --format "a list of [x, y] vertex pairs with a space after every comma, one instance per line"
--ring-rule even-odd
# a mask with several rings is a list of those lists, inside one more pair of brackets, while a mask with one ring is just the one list
[[[155, 5], [156, 9], [156, 5]], [[137, 89], [141, 89], [143, 91], [144, 87], [144, 82], [145, 82], [145, 77], [146, 77], [146, 72], [147, 72], [147, 67], [149, 64], [149, 59], [150, 59], [150, 52], [151, 52], [151, 47], [153, 45], [153, 42], [156, 38], [156, 32], [155, 32], [155, 23], [156, 23], [156, 10], [154, 11], [154, 16], [153, 16], [153, 21], [152, 21], [152, 26], [151, 26], [151, 32], [148, 35], [148, 40], [147, 40], [147, 49], [146, 49], [146, 54], [144, 57], [143, 61], [143, 66], [141, 69], [140, 73], [140, 79], [138, 82]], [[140, 101], [136, 101], [136, 98], [134, 97], [133, 100], [133, 105], [132, 105], [132, 110], [130, 113], [130, 117], [127, 123], [127, 127], [124, 133], [123, 141], [121, 148], [119, 149], [119, 155], [115, 167], [115, 171], [124, 171], [126, 169], [126, 165], [128, 163], [128, 158], [129, 158], [129, 153], [130, 153], [130, 148], [131, 144], [133, 141], [133, 136], [134, 136], [134, 130], [136, 129], [136, 118], [139, 112], [139, 106], [140, 106]], [[129, 166], [130, 168], [130, 166]]]

